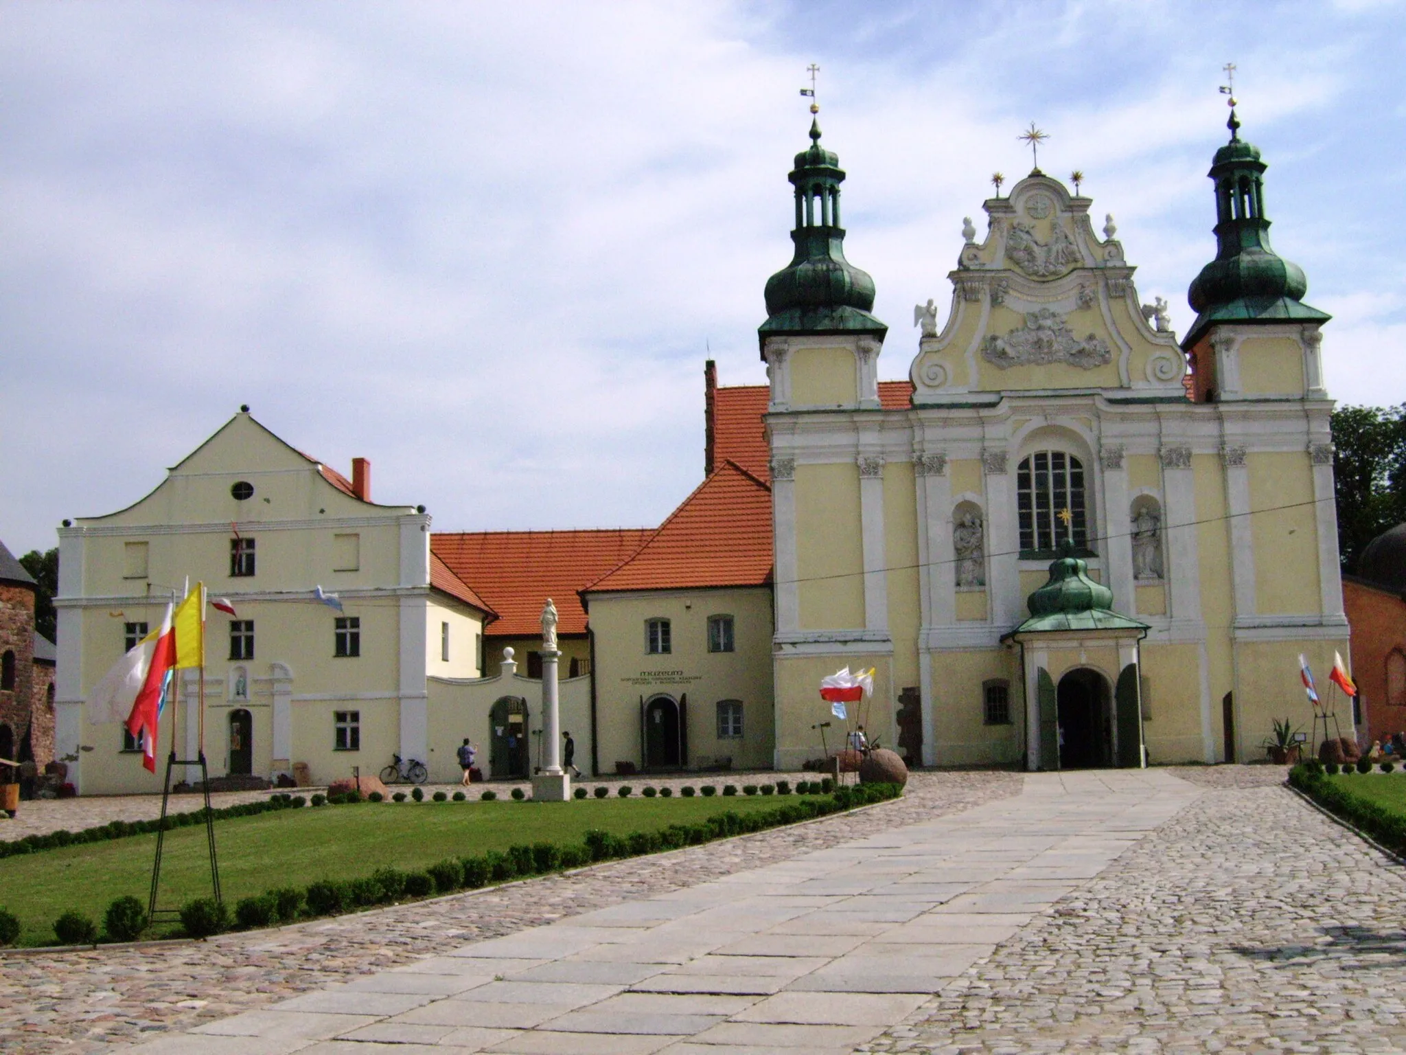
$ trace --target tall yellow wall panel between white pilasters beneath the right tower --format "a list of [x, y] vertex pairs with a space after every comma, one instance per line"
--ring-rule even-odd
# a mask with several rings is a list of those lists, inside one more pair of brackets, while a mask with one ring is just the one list
[[1317, 513], [1309, 456], [1303, 452], [1247, 454], [1246, 467], [1253, 511], [1256, 609], [1260, 615], [1317, 613], [1322, 608]]

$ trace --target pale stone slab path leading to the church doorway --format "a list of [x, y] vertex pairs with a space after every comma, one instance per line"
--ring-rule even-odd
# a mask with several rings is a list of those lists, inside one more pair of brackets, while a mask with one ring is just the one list
[[134, 1052], [849, 1052], [1199, 789], [1040, 774], [1019, 796], [328, 986]]

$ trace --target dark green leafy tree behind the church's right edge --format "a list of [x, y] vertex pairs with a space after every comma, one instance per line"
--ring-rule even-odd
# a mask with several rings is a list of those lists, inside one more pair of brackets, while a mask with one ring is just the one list
[[1367, 543], [1406, 520], [1406, 404], [1333, 411], [1337, 551], [1357, 571]]

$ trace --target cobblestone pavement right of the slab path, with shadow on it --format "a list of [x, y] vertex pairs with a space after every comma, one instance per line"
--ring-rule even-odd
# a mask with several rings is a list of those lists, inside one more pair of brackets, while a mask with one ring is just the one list
[[1406, 868], [1237, 786], [1279, 767], [1175, 772], [1211, 789], [860, 1049], [1406, 1051]]

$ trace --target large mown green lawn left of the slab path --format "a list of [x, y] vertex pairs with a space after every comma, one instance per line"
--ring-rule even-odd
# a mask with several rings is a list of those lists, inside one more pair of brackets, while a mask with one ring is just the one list
[[[1365, 781], [1364, 781], [1365, 784]], [[468, 857], [530, 843], [579, 844], [586, 829], [617, 836], [692, 824], [713, 813], [749, 813], [793, 799], [714, 796], [531, 802], [361, 803], [278, 810], [217, 821], [225, 900], [325, 878], [353, 879], [377, 868], [423, 869], [446, 857]], [[146, 904], [156, 836], [132, 836], [0, 859], [0, 907], [24, 926], [20, 945], [52, 945], [53, 920], [67, 909], [98, 927], [107, 904], [125, 893]], [[205, 829], [166, 833], [163, 907], [209, 895]]]

